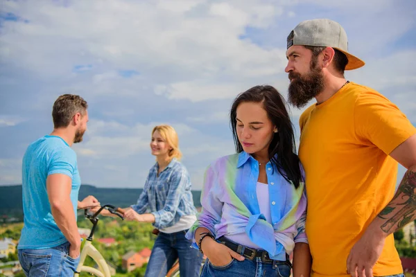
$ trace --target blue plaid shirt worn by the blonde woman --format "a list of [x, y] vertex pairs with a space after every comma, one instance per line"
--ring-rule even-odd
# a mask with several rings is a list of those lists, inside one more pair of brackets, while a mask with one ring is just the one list
[[187, 168], [174, 158], [159, 177], [158, 170], [158, 163], [150, 168], [143, 192], [131, 208], [137, 213], [150, 211], [156, 219], [153, 226], [164, 229], [173, 226], [183, 215], [196, 215], [196, 208]]

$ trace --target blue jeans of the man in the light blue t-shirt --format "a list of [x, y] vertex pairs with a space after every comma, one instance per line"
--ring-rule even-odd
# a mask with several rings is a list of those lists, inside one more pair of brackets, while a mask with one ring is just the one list
[[19, 249], [19, 262], [29, 277], [73, 276], [80, 257], [69, 256], [69, 242], [48, 249]]

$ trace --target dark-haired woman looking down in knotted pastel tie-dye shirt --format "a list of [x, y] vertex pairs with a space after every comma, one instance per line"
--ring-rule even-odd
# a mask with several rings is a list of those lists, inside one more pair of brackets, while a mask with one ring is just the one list
[[270, 86], [236, 97], [236, 154], [205, 173], [202, 211], [187, 233], [207, 256], [201, 276], [309, 276], [304, 171], [284, 98]]

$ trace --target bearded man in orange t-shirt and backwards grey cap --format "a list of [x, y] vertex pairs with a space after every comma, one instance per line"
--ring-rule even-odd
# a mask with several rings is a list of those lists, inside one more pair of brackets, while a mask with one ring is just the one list
[[[288, 35], [288, 100], [304, 107], [299, 157], [306, 172], [312, 276], [403, 276], [393, 234], [416, 219], [416, 129], [381, 93], [345, 79], [364, 62], [329, 19]], [[398, 162], [408, 171], [395, 192]]]

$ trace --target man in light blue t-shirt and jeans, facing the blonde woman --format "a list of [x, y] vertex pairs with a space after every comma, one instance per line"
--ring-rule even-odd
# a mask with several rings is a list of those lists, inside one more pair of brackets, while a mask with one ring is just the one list
[[52, 117], [53, 132], [31, 143], [22, 161], [24, 227], [17, 249], [26, 276], [73, 276], [81, 245], [76, 210], [100, 204], [91, 195], [78, 201], [81, 179], [71, 149], [83, 141], [87, 102], [64, 94]]

